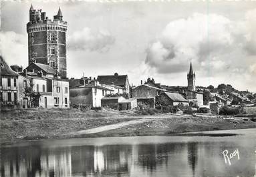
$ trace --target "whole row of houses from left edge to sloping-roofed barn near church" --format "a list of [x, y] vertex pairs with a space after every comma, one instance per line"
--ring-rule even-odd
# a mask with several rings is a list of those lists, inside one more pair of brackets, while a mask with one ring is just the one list
[[[152, 108], [156, 104], [188, 105], [188, 100], [180, 94], [160, 88], [154, 80], [130, 87], [128, 75], [118, 73], [99, 75], [97, 79], [61, 79], [49, 65], [41, 63], [31, 63], [25, 69], [12, 68], [1, 57], [1, 108], [70, 108], [71, 105], [130, 110], [136, 108], [138, 103]], [[39, 94], [34, 105], [29, 92]]]

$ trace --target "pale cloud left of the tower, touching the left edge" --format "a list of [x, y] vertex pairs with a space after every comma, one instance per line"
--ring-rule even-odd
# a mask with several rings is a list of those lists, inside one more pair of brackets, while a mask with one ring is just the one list
[[0, 53], [9, 65], [27, 65], [27, 36], [13, 31], [0, 32]]

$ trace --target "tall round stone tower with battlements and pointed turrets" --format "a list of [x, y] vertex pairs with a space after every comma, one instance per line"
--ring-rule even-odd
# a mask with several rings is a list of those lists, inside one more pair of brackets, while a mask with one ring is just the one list
[[63, 21], [61, 9], [53, 20], [46, 17], [41, 9], [29, 9], [27, 34], [29, 44], [29, 64], [31, 62], [49, 65], [61, 78], [67, 77], [66, 31], [67, 22]]

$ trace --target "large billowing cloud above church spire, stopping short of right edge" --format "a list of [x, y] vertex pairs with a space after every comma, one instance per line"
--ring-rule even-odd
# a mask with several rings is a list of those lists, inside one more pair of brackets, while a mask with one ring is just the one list
[[208, 67], [205, 60], [211, 59], [211, 65], [221, 69], [225, 63], [219, 61], [219, 56], [232, 49], [235, 43], [232, 25], [221, 15], [201, 13], [171, 21], [160, 39], [150, 43], [145, 62], [159, 73], [187, 71], [190, 59], [202, 67]]

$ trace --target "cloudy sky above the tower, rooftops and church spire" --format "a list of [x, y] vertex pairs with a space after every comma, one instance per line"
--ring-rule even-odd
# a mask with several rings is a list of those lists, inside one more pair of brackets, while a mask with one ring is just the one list
[[187, 85], [231, 84], [256, 92], [256, 1], [2, 1], [0, 53], [27, 66], [29, 7], [68, 22], [68, 77], [128, 74]]

